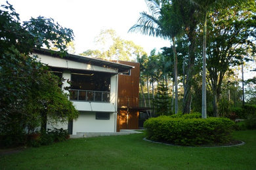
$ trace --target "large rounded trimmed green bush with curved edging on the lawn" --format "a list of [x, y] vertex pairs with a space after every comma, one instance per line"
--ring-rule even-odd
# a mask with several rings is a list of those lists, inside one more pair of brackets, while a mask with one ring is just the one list
[[228, 143], [234, 122], [228, 118], [171, 118], [160, 116], [144, 122], [147, 138], [185, 146]]

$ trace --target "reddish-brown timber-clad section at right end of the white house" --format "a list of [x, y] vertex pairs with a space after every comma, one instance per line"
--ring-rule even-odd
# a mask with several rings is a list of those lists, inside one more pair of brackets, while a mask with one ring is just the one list
[[131, 65], [130, 75], [118, 76], [118, 104], [117, 104], [117, 131], [120, 129], [139, 129], [139, 78], [140, 63], [118, 61], [118, 63]]

